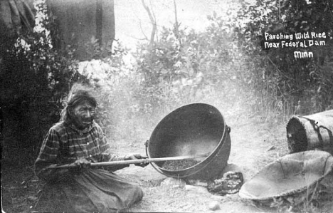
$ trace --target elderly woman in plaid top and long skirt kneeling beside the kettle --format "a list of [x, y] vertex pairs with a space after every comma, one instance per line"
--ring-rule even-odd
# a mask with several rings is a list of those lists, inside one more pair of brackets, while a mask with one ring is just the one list
[[[137, 185], [108, 170], [89, 167], [91, 162], [146, 158], [139, 154], [112, 155], [102, 129], [94, 121], [96, 106], [92, 95], [79, 90], [70, 98], [63, 120], [48, 131], [35, 162], [36, 175], [46, 181], [37, 210], [118, 212], [142, 199], [142, 189]], [[77, 167], [49, 169], [64, 164]], [[126, 166], [110, 169], [123, 167]]]

